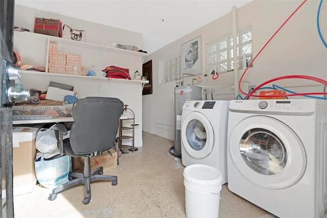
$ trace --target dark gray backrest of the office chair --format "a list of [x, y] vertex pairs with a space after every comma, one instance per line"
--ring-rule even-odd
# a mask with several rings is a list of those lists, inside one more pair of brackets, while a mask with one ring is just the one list
[[73, 105], [69, 142], [76, 155], [109, 150], [115, 143], [124, 103], [118, 98], [86, 97]]

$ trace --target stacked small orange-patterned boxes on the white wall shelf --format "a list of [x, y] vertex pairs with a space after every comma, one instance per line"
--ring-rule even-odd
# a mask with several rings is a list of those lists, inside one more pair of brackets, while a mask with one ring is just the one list
[[57, 43], [50, 42], [49, 73], [81, 75], [82, 56], [57, 51]]

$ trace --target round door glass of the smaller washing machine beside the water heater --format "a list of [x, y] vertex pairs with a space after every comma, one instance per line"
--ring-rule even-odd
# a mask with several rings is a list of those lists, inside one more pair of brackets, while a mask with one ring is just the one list
[[186, 125], [186, 139], [194, 150], [201, 150], [206, 142], [206, 132], [199, 120], [191, 120]]

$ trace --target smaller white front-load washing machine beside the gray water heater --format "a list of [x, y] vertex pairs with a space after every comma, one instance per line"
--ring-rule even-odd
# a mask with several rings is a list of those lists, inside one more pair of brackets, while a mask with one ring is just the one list
[[227, 182], [227, 120], [229, 101], [186, 101], [182, 107], [182, 164], [218, 168]]

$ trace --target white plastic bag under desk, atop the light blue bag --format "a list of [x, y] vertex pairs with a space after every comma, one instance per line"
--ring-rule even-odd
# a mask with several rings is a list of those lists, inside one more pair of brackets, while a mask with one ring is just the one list
[[52, 152], [58, 147], [55, 125], [51, 126], [49, 129], [40, 128], [39, 132], [36, 134], [35, 146], [40, 152]]

